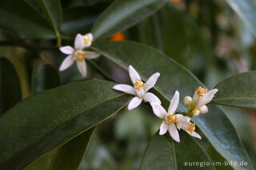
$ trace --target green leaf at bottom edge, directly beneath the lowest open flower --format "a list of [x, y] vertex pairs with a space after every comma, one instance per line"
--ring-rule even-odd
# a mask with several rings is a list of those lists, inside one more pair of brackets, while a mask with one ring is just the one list
[[[180, 143], [172, 140], [168, 132], [164, 136], [158, 133], [154, 134], [144, 152], [141, 170], [215, 169], [203, 148], [191, 136], [185, 134], [186, 132], [180, 132]], [[198, 165], [194, 164], [197, 162]], [[204, 162], [210, 166], [202, 166]]]

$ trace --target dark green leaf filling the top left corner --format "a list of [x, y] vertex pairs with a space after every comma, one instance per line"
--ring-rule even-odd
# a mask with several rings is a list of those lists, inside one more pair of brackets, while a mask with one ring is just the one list
[[2, 1], [0, 28], [21, 38], [54, 38], [54, 31], [42, 15], [23, 0]]

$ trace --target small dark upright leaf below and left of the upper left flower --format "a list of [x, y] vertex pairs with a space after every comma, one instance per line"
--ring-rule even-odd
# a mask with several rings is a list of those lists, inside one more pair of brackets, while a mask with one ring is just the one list
[[60, 85], [58, 71], [51, 65], [39, 62], [32, 73], [32, 94], [45, 89], [53, 89], [54, 87], [58, 87], [58, 85]]

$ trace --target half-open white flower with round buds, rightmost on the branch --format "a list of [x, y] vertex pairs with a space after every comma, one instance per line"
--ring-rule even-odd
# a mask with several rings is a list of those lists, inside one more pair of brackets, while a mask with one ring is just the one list
[[188, 113], [191, 113], [193, 117], [199, 114], [204, 114], [208, 112], [206, 106], [213, 98], [214, 94], [218, 92], [218, 89], [208, 89], [199, 86], [195, 92], [193, 99], [191, 97], [184, 98], [184, 104], [188, 107]]

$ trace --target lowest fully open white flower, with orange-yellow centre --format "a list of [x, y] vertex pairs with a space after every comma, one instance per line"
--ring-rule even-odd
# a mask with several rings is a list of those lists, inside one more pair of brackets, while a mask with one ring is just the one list
[[155, 103], [151, 104], [154, 114], [160, 119], [163, 119], [162, 124], [160, 126], [159, 134], [163, 135], [168, 130], [170, 136], [177, 142], [179, 142], [180, 140], [175, 122], [184, 120], [184, 116], [182, 114], [175, 114], [175, 111], [178, 107], [178, 101], [179, 93], [178, 91], [176, 91], [174, 93], [174, 97], [172, 97], [172, 99], [170, 100], [168, 112], [166, 112], [166, 109], [164, 109], [162, 105], [158, 105]]

